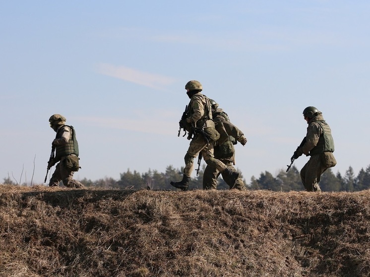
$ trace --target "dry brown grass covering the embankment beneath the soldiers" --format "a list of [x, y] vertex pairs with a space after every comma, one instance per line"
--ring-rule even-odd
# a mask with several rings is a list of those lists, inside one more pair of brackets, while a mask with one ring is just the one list
[[369, 277], [369, 202], [0, 185], [0, 276]]

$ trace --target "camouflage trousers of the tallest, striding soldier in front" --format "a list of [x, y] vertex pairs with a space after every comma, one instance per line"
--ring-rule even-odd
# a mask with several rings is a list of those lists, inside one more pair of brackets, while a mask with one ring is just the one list
[[204, 162], [207, 165], [217, 168], [220, 172], [224, 171], [227, 166], [225, 166], [221, 161], [214, 158], [213, 155], [213, 143], [207, 144], [201, 135], [190, 141], [189, 148], [185, 154], [185, 168], [184, 175], [190, 177], [194, 169], [194, 158], [198, 156], [199, 152], [202, 152]]

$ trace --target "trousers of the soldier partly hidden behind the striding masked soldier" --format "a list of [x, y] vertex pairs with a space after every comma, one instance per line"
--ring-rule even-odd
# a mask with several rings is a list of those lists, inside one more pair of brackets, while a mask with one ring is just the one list
[[[234, 163], [230, 160], [221, 159], [227, 167], [231, 168], [233, 171], [237, 171], [234, 167]], [[231, 183], [230, 176], [223, 174], [216, 167], [206, 166], [203, 173], [203, 189], [216, 189], [217, 188], [217, 178], [222, 174], [222, 178], [227, 184]], [[230, 186], [230, 185], [229, 185]], [[246, 186], [241, 177], [239, 177], [233, 187], [230, 189], [246, 190]]]

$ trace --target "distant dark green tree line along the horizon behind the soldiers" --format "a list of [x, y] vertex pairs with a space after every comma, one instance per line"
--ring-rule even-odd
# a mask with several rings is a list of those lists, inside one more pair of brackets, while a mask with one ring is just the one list
[[[190, 180], [189, 189], [202, 189], [202, 179], [205, 166], [199, 170], [197, 176], [193, 176]], [[126, 172], [120, 174], [120, 179], [103, 178], [99, 180], [88, 180], [86, 178], [80, 180], [85, 186], [96, 186], [105, 188], [119, 189], [159, 189], [159, 190], [175, 190], [170, 185], [170, 181], [181, 180], [183, 177], [183, 167], [176, 169], [173, 166], [167, 166], [165, 172], [149, 169], [145, 173], [139, 173], [136, 170], [133, 172], [127, 169]], [[193, 174], [195, 175], [195, 174]], [[243, 175], [241, 173], [241, 177]], [[270, 172], [261, 172], [259, 177], [251, 177], [250, 182], [246, 182], [247, 189], [270, 189], [272, 191], [302, 191], [304, 186], [301, 181], [300, 171], [296, 166], [292, 166], [288, 172], [281, 169], [274, 177]], [[218, 189], [229, 189], [229, 186], [220, 176], [218, 179]], [[331, 168], [328, 168], [322, 175], [320, 180], [320, 188], [322, 191], [360, 191], [370, 188], [370, 165], [364, 170], [362, 168], [357, 176], [350, 166], [344, 176], [341, 173], [333, 173]]]

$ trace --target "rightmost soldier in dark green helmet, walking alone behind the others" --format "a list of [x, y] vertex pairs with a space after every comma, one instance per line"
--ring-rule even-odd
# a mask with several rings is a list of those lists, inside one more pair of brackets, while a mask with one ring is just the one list
[[321, 111], [310, 106], [303, 111], [303, 116], [308, 123], [306, 142], [294, 152], [293, 158], [298, 159], [302, 154], [310, 156], [301, 169], [302, 183], [307, 191], [320, 192], [321, 174], [337, 164], [333, 155], [334, 140]]

